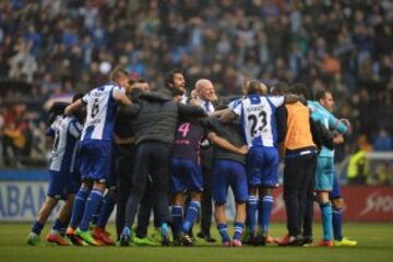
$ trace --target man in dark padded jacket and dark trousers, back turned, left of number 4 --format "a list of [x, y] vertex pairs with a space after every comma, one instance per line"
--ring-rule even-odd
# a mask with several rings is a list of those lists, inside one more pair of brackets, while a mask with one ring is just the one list
[[158, 93], [142, 94], [138, 104], [122, 107], [120, 111], [133, 118], [135, 132], [135, 158], [132, 176], [132, 191], [127, 202], [124, 228], [120, 242], [129, 245], [131, 226], [138, 206], [151, 176], [154, 205], [160, 219], [163, 243], [168, 245], [170, 221], [168, 204], [168, 159], [175, 140], [178, 119], [206, 117], [202, 108], [174, 102], [171, 91], [165, 88]]

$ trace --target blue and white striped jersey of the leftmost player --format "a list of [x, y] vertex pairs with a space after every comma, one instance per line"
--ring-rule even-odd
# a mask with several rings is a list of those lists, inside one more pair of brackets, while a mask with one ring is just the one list
[[50, 170], [73, 172], [82, 124], [73, 116], [58, 116], [47, 131], [55, 136]]

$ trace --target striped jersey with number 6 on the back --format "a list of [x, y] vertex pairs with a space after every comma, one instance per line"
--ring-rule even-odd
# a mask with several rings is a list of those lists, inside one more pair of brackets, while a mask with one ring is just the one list
[[92, 90], [82, 97], [82, 100], [87, 105], [87, 116], [82, 132], [82, 141], [112, 140], [117, 109], [114, 92], [126, 93], [124, 88], [118, 84], [108, 83]]

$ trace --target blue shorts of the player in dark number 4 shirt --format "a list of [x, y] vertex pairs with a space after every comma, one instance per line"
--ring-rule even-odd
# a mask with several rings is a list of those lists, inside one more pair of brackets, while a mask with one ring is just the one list
[[202, 192], [202, 168], [193, 160], [171, 157], [169, 160], [169, 192], [179, 193], [186, 190]]

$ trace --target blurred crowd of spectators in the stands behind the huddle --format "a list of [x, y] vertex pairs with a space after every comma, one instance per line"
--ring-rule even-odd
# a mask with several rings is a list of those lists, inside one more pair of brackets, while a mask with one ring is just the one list
[[[207, 78], [221, 95], [239, 94], [246, 78], [325, 87], [353, 123], [349, 144], [392, 151], [392, 29], [389, 0], [1, 1], [0, 78], [29, 84], [3, 92], [2, 136], [33, 138], [45, 102], [86, 92], [122, 64], [154, 87], [180, 68], [189, 90]], [[36, 114], [14, 97], [33, 99]]]

